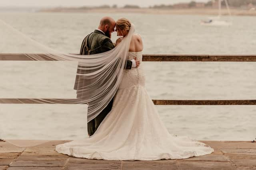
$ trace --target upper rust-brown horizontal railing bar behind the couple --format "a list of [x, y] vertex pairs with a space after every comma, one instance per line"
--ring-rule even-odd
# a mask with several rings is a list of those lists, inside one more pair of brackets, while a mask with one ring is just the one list
[[[0, 61], [56, 61], [46, 54], [0, 54]], [[143, 55], [142, 61], [256, 62], [256, 55]]]

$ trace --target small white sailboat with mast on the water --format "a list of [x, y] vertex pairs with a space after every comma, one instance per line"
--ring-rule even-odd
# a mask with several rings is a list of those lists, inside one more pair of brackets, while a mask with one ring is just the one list
[[229, 9], [227, 0], [224, 0], [224, 1], [225, 1], [227, 10], [228, 10], [228, 14], [230, 16], [230, 20], [223, 20], [221, 18], [221, 1], [222, 0], [218, 0], [219, 15], [214, 18], [209, 18], [208, 20], [202, 20], [201, 25], [206, 25], [206, 26], [230, 26], [230, 25], [232, 25], [231, 13], [230, 13], [230, 9]]

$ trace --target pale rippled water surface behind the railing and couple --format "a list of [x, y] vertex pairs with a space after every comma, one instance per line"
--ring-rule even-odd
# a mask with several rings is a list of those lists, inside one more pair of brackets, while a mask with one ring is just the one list
[[[234, 16], [231, 27], [205, 27], [206, 16], [86, 13], [0, 13], [0, 53], [78, 53], [102, 16], [126, 17], [144, 41], [144, 54], [256, 54], [255, 17]], [[34, 41], [32, 41], [32, 38]], [[112, 40], [116, 40], [113, 33]], [[36, 43], [38, 42], [38, 43]], [[154, 99], [255, 100], [256, 63], [144, 62]], [[76, 63], [0, 62], [0, 98], [75, 98]], [[198, 140], [252, 140], [256, 106], [157, 106], [170, 133]], [[4, 139], [81, 139], [84, 106], [0, 104]]]

